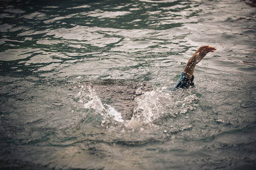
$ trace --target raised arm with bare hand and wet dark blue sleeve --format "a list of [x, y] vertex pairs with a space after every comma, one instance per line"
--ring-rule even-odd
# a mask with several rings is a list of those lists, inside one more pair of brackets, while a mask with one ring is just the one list
[[181, 73], [180, 79], [172, 88], [173, 90], [177, 90], [178, 88], [188, 88], [189, 86], [194, 86], [194, 70], [197, 63], [203, 59], [207, 53], [214, 52], [216, 48], [203, 45], [198, 50], [196, 50], [195, 54], [188, 60], [187, 66], [185, 67], [184, 71]]

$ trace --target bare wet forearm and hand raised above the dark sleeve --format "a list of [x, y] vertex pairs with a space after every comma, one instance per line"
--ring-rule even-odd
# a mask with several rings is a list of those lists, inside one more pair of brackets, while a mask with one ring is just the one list
[[209, 45], [203, 45], [196, 50], [195, 54], [193, 54], [193, 56], [188, 60], [187, 66], [183, 71], [189, 80], [192, 79], [196, 64], [199, 63], [207, 53], [214, 52], [214, 50], [216, 50], [216, 48]]

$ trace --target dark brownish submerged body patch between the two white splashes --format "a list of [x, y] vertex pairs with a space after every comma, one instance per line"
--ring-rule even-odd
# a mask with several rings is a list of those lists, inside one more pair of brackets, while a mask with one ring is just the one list
[[[98, 80], [83, 82], [85, 91], [95, 93], [103, 104], [111, 105], [122, 114], [124, 120], [129, 120], [138, 106], [135, 98], [153, 88], [148, 83], [129, 82], [124, 80]], [[91, 97], [92, 98], [92, 97]]]

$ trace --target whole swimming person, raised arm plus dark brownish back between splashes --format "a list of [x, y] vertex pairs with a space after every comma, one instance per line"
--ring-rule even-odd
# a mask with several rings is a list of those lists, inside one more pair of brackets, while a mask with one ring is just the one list
[[[180, 79], [172, 90], [193, 86], [193, 71], [196, 64], [199, 63], [208, 52], [214, 52], [214, 50], [216, 50], [216, 48], [208, 45], [201, 46], [189, 59], [187, 66], [181, 73]], [[94, 92], [95, 95], [100, 97], [100, 102], [102, 101], [102, 103], [105, 104], [105, 106], [102, 103], [99, 104], [101, 108], [100, 112], [104, 111], [106, 105], [111, 105], [117, 112], [121, 113], [123, 120], [130, 120], [140, 109], [138, 108], [137, 97], [153, 90], [153, 87], [148, 83], [129, 82], [126, 80], [98, 80], [95, 82], [84, 82], [82, 86]], [[89, 106], [88, 104], [85, 105], [86, 107]], [[90, 105], [90, 107], [92, 106]], [[99, 107], [94, 106], [92, 108], [98, 109]]]

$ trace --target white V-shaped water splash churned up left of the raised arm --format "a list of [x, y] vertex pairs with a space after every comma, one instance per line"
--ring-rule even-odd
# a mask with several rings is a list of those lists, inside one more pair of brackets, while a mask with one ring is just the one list
[[[102, 102], [104, 99], [102, 99], [102, 96], [98, 96], [93, 86], [80, 86], [80, 91], [76, 97], [79, 97], [78, 102], [83, 103], [85, 109], [93, 109], [94, 113], [101, 115], [103, 119], [102, 126], [110, 127], [119, 124], [129, 129], [154, 126], [159, 124], [159, 121], [162, 121], [164, 117], [172, 119], [179, 114], [187, 113], [189, 110], [196, 108], [198, 98], [191, 91], [180, 90], [171, 92], [163, 89], [140, 92], [134, 99], [130, 99], [136, 103], [130, 119], [124, 117], [124, 114], [121, 112], [118, 112], [118, 108], [115, 108], [111, 103]], [[134, 90], [134, 93], [138, 94], [139, 90], [141, 88]], [[118, 93], [118, 91], [115, 91], [115, 93]], [[118, 107], [126, 107], [126, 105], [121, 103]]]

